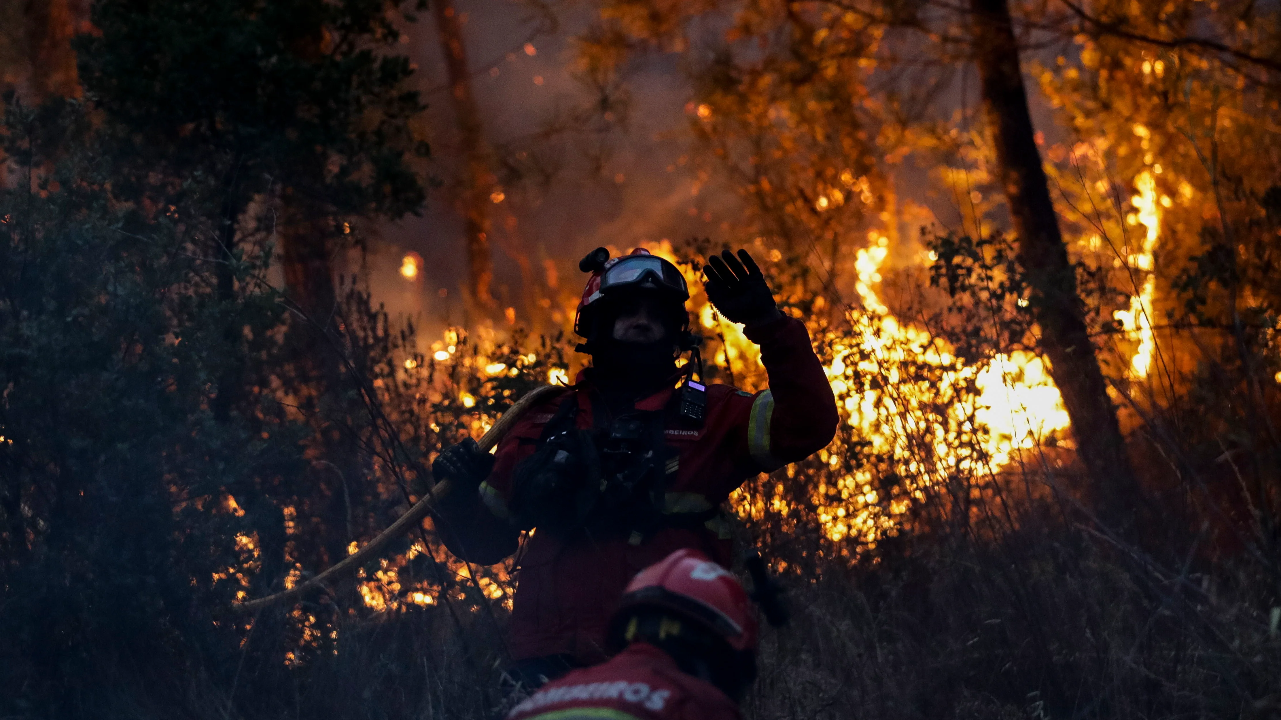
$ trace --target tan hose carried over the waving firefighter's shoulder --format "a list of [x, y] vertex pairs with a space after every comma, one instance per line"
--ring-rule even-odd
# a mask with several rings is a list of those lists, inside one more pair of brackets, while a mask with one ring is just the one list
[[[489, 432], [487, 432], [477, 445], [480, 446], [480, 450], [488, 452], [493, 446], [498, 445], [498, 441], [501, 441], [502, 437], [511, 430], [511, 427], [516, 424], [516, 420], [526, 410], [544, 402], [548, 397], [556, 395], [557, 392], [562, 392], [564, 389], [565, 388], [560, 386], [542, 386], [529, 391], [528, 393], [525, 393], [524, 397], [518, 400], [516, 404], [512, 405], [510, 410], [507, 410], [506, 413], [502, 414], [501, 418], [498, 418], [498, 421], [494, 423], [492, 428], [489, 428]], [[410, 507], [409, 511], [401, 515], [395, 523], [392, 523], [389, 528], [383, 530], [377, 538], [371, 539], [368, 544], [365, 544], [365, 547], [345, 557], [337, 565], [329, 568], [324, 573], [320, 573], [319, 575], [311, 578], [305, 583], [293, 585], [287, 591], [278, 592], [275, 594], [269, 594], [266, 597], [260, 597], [257, 600], [247, 600], [245, 602], [237, 602], [232, 607], [241, 612], [256, 612], [264, 607], [269, 607], [278, 602], [293, 600], [305, 592], [313, 591], [337, 578], [341, 578], [348, 571], [355, 571], [357, 568], [368, 562], [373, 556], [378, 555], [378, 552], [382, 551], [383, 547], [387, 546], [387, 543], [407, 533], [411, 528], [421, 523], [423, 518], [425, 518], [427, 514], [430, 512], [432, 503], [436, 500], [445, 497], [446, 493], [448, 492], [450, 492], [448, 480], [441, 480], [436, 483], [434, 486], [432, 486], [432, 489], [428, 491], [425, 496], [423, 496], [421, 500], [414, 503], [414, 507]]]

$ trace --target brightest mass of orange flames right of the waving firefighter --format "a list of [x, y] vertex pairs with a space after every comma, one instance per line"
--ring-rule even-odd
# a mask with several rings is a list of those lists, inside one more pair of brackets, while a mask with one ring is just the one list
[[[848, 332], [828, 332], [816, 338], [831, 355], [825, 368], [833, 393], [845, 423], [856, 436], [871, 443], [871, 452], [893, 457], [894, 470], [902, 478], [924, 478], [926, 484], [943, 482], [953, 473], [986, 473], [999, 470], [1015, 452], [1035, 446], [1047, 434], [1068, 425], [1062, 397], [1050, 382], [1039, 357], [1026, 352], [997, 355], [985, 366], [965, 365], [953, 348], [922, 328], [904, 324], [890, 311], [876, 292], [880, 269], [889, 251], [889, 240], [872, 233], [874, 243], [856, 255], [858, 274], [854, 290], [862, 311], [851, 311]], [[714, 320], [708, 307], [701, 319], [705, 327], [719, 323], [725, 338], [725, 360], [758, 366], [758, 350], [738, 325]], [[813, 332], [815, 328], [811, 328]], [[913, 360], [939, 369], [940, 382], [926, 383], [904, 377], [904, 363]], [[877, 377], [881, 383], [872, 389], [862, 378]], [[961, 392], [974, 383], [979, 389], [971, 405], [949, 406], [942, 421], [929, 420], [925, 404], [940, 395], [963, 397]], [[927, 387], [930, 386], [930, 387]], [[954, 391], [954, 393], [953, 393]], [[970, 415], [972, 414], [972, 420]], [[975, 428], [974, 423], [983, 425]], [[958, 450], [958, 438], [979, 430], [980, 455]], [[912, 437], [927, 437], [926, 456]], [[840, 448], [824, 451], [820, 460], [833, 468], [840, 465]], [[794, 469], [788, 469], [789, 477]], [[895, 516], [907, 510], [907, 500], [881, 503], [870, 470], [858, 470], [838, 478], [836, 487], [820, 484], [812, 500], [819, 509], [819, 521], [831, 541], [856, 538], [875, 547], [876, 541], [892, 532]], [[921, 486], [908, 488], [908, 496], [924, 498]], [[833, 502], [830, 497], [839, 497]], [[748, 497], [744, 491], [731, 496], [731, 502], [744, 518], [761, 519], [766, 510], [788, 510], [784, 488], [778, 484], [771, 497]]]

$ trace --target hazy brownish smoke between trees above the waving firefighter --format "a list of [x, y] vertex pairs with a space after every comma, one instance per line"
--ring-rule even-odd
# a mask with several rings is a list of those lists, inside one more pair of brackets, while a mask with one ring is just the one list
[[[625, 111], [614, 113], [612, 122], [597, 118], [578, 127], [569, 119], [598, 102], [593, 88], [574, 77], [574, 38], [588, 27], [589, 9], [557, 8], [555, 23], [516, 3], [464, 1], [457, 12], [465, 20], [484, 137], [496, 159], [516, 169], [500, 168], [503, 200], [491, 208], [493, 293], [501, 306], [521, 306], [518, 252], [528, 255], [541, 292], [547, 291], [548, 259], [560, 261], [552, 279], [576, 292], [583, 278], [570, 261], [592, 247], [628, 250], [644, 241], [717, 233], [733, 199], [693, 192], [687, 129], [693, 95], [674, 56], [633, 64]], [[370, 279], [392, 311], [423, 313], [429, 323], [459, 322], [468, 273], [451, 192], [460, 174], [457, 120], [430, 15], [424, 13], [407, 35], [406, 53], [429, 105], [433, 159], [424, 170], [439, 186], [423, 217], [380, 229]], [[418, 282], [397, 273], [406, 251], [424, 259]]]

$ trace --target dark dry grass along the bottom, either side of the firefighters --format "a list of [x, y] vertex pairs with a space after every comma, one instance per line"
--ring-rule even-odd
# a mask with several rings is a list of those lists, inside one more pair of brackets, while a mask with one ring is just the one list
[[[1275, 594], [1248, 553], [1164, 565], [1049, 511], [1026, 519], [986, 539], [904, 537], [861, 566], [789, 578], [793, 621], [766, 632], [746, 715], [1281, 717]], [[337, 655], [259, 678], [232, 716], [498, 714], [501, 634], [485, 618], [430, 609], [342, 638]]]

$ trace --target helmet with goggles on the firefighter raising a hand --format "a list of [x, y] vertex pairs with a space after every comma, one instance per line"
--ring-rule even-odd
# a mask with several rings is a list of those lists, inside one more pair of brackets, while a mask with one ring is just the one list
[[578, 315], [574, 318], [574, 332], [591, 337], [593, 313], [611, 295], [626, 290], [648, 290], [657, 293], [675, 310], [684, 313], [689, 300], [689, 288], [680, 270], [648, 250], [637, 247], [628, 255], [610, 258], [610, 251], [597, 247], [578, 264], [584, 273], [592, 273], [578, 301]]

